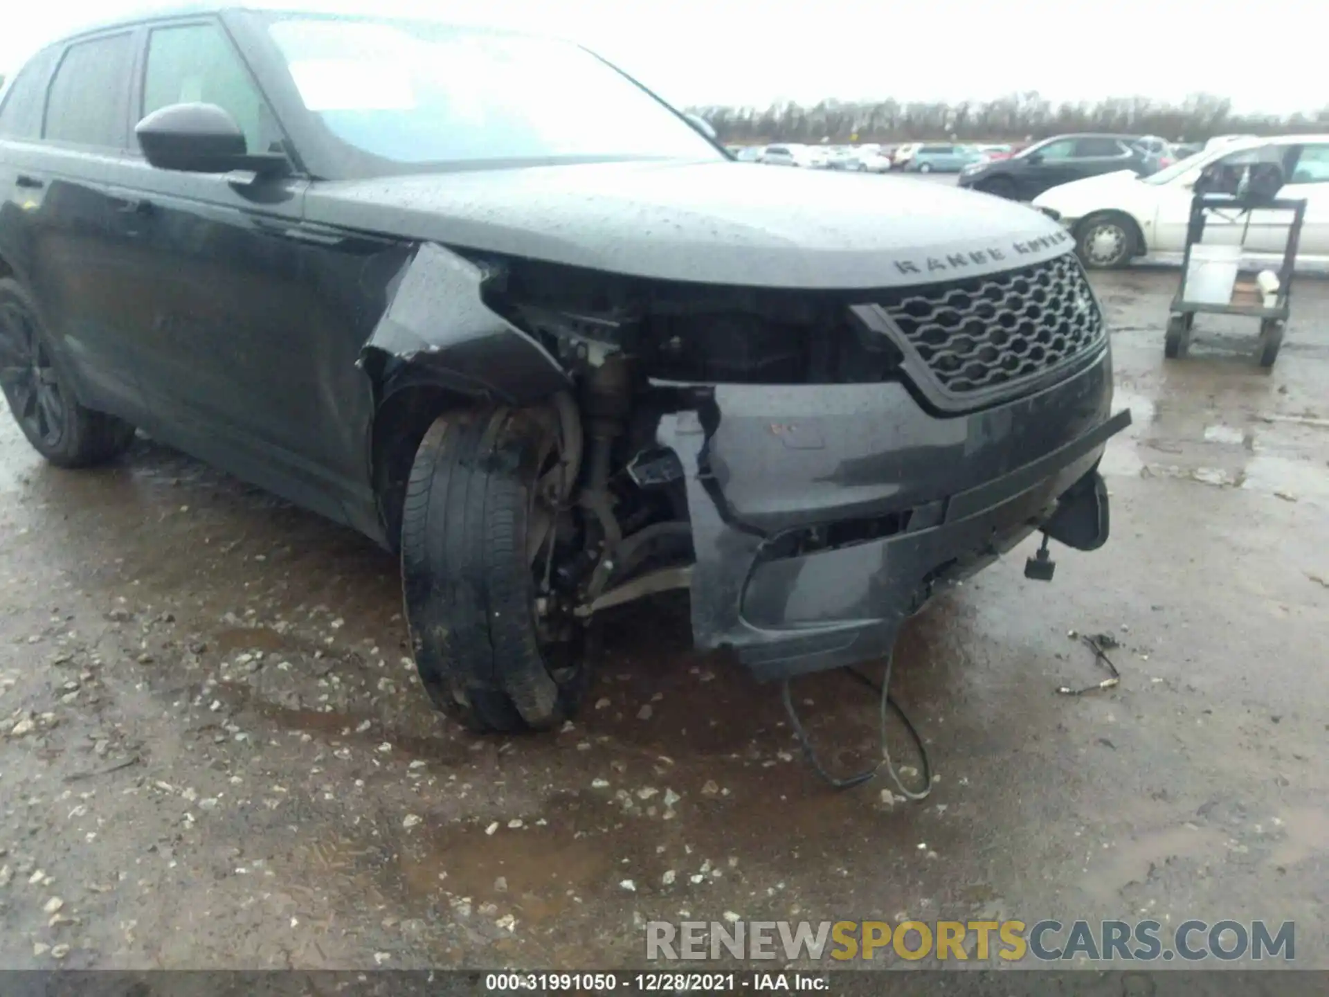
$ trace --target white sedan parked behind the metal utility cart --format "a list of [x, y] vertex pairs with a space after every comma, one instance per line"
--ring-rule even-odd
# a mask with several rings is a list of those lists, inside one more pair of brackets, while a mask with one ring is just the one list
[[[1043, 191], [1034, 207], [1057, 217], [1075, 235], [1088, 267], [1126, 266], [1144, 254], [1185, 249], [1191, 197], [1200, 171], [1211, 164], [1278, 162], [1288, 182], [1281, 198], [1305, 198], [1298, 259], [1329, 257], [1329, 136], [1239, 138], [1205, 149], [1151, 177], [1130, 171], [1088, 177]], [[1244, 246], [1251, 257], [1282, 257], [1288, 211], [1212, 214], [1204, 241]]]

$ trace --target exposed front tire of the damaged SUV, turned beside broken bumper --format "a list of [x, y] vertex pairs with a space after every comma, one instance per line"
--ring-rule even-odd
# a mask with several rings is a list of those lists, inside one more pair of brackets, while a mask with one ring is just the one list
[[[548, 730], [590, 669], [554, 669], [537, 629], [526, 530], [542, 437], [529, 415], [445, 415], [416, 452], [401, 514], [401, 578], [416, 669], [435, 706], [473, 731]], [[573, 649], [575, 650], [575, 649]]]

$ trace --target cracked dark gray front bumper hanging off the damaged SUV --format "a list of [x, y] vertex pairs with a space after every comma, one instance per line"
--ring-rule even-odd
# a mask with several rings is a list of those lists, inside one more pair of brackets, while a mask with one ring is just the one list
[[[898, 383], [718, 386], [664, 416], [659, 443], [686, 472], [696, 645], [735, 649], [759, 679], [840, 667], [888, 653], [938, 586], [1039, 526], [1100, 545], [1096, 467], [1131, 420], [1111, 397], [1104, 348], [1053, 387], [961, 416], [930, 415]], [[852, 541], [801, 542], [841, 526]]]

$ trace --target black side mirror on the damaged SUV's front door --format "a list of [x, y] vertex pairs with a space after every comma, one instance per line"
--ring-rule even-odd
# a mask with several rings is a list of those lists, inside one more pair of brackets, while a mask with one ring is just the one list
[[245, 132], [215, 104], [170, 104], [140, 121], [134, 134], [148, 162], [159, 170], [279, 173], [288, 165], [280, 154], [249, 154]]

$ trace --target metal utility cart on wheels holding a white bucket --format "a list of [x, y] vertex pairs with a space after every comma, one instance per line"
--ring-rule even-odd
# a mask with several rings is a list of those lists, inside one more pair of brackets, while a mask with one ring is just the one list
[[[1225, 304], [1211, 302], [1187, 300], [1187, 278], [1191, 274], [1191, 249], [1199, 245], [1204, 237], [1204, 223], [1211, 211], [1236, 211], [1237, 217], [1244, 215], [1243, 243], [1245, 231], [1251, 226], [1252, 211], [1289, 211], [1292, 225], [1288, 229], [1288, 245], [1282, 253], [1282, 265], [1278, 269], [1278, 286], [1269, 291], [1272, 302], [1267, 302], [1265, 291], [1256, 284], [1237, 283], [1232, 298]], [[1301, 239], [1301, 222], [1305, 219], [1306, 202], [1304, 199], [1286, 198], [1243, 198], [1232, 194], [1196, 193], [1191, 199], [1191, 219], [1185, 231], [1185, 255], [1181, 259], [1181, 283], [1176, 296], [1172, 299], [1171, 315], [1167, 323], [1167, 338], [1163, 343], [1163, 352], [1170, 358], [1185, 356], [1191, 347], [1191, 327], [1199, 312], [1216, 315], [1249, 315], [1260, 319], [1260, 344], [1256, 359], [1261, 367], [1272, 367], [1278, 359], [1278, 347], [1282, 346], [1282, 328], [1288, 322], [1289, 303], [1292, 300], [1292, 271], [1297, 259], [1297, 243]], [[1236, 221], [1229, 217], [1229, 221]], [[1267, 307], [1272, 304], [1272, 307]]]

